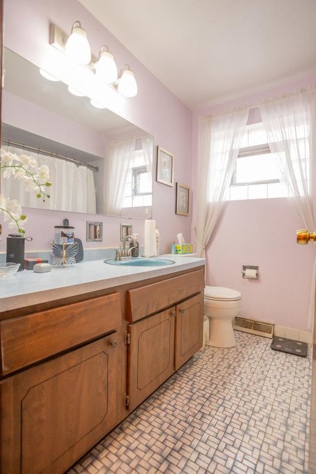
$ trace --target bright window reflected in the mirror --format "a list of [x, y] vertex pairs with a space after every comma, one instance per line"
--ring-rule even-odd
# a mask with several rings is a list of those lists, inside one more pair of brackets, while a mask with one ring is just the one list
[[143, 150], [129, 160], [122, 207], [152, 205], [152, 179], [145, 164]]

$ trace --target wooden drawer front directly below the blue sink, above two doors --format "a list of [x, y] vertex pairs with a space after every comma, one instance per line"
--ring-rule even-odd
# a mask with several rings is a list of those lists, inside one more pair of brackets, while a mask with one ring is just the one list
[[127, 316], [137, 321], [203, 291], [204, 267], [127, 291]]

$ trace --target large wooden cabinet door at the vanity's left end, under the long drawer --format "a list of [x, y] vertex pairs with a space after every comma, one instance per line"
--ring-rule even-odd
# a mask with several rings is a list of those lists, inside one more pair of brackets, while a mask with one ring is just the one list
[[0, 472], [61, 474], [119, 422], [117, 333], [0, 382]]

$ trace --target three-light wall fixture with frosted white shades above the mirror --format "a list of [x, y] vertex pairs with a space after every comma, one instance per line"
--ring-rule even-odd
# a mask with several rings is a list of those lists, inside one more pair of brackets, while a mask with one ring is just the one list
[[[72, 33], [69, 38], [60, 28], [51, 24], [49, 43], [59, 51], [66, 53], [67, 57], [75, 57], [77, 64], [83, 65], [82, 67], [87, 68], [94, 77], [101, 79], [105, 85], [116, 90], [120, 95], [124, 97], [134, 97], [137, 94], [137, 83], [134, 73], [128, 64], [124, 64], [118, 76], [118, 68], [108, 46], [104, 45], [100, 48], [98, 59], [91, 56], [86, 33], [81, 28], [79, 21], [75, 21], [73, 24]], [[80, 44], [80, 46], [78, 46], [78, 44]], [[79, 60], [79, 53], [80, 56], [82, 53], [84, 58], [80, 57]]]

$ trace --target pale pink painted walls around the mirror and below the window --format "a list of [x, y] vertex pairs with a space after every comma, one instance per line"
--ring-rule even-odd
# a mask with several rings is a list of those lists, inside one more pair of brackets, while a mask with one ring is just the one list
[[[153, 134], [155, 157], [157, 145], [174, 153], [175, 183], [192, 186], [193, 196], [198, 189], [195, 166], [198, 118], [238, 106], [254, 106], [263, 98], [316, 82], [313, 76], [296, 82], [288, 81], [281, 87], [192, 114], [77, 0], [4, 0], [4, 44], [38, 66], [44, 66], [49, 23], [56, 23], [68, 32], [78, 19], [87, 31], [93, 54], [97, 55], [102, 44], [108, 44], [118, 64], [130, 63], [137, 78], [137, 97], [123, 101], [112, 110]], [[161, 252], [169, 252], [170, 244], [179, 232], [186, 240], [194, 240], [191, 232], [195, 211], [191, 227], [191, 217], [178, 216], [174, 209], [175, 188], [154, 181], [153, 217], [158, 222]], [[28, 250], [47, 249], [53, 227], [60, 225], [64, 217], [68, 217], [71, 225], [76, 227], [76, 235], [82, 238], [86, 248], [118, 245], [119, 224], [124, 222], [122, 218], [97, 216], [97, 220], [104, 223], [104, 241], [86, 243], [85, 223], [86, 220], [95, 220], [95, 216], [32, 209], [28, 209], [27, 214], [27, 235], [34, 238], [27, 244]], [[144, 222], [133, 220], [132, 223], [142, 244]], [[286, 199], [226, 203], [216, 233], [206, 249], [207, 283], [240, 290], [244, 316], [307, 329], [314, 248], [296, 244], [295, 231], [298, 228], [300, 224]], [[9, 232], [5, 223], [2, 237]], [[0, 241], [0, 251], [5, 251], [5, 238]], [[259, 280], [242, 279], [242, 265], [259, 265]]]

